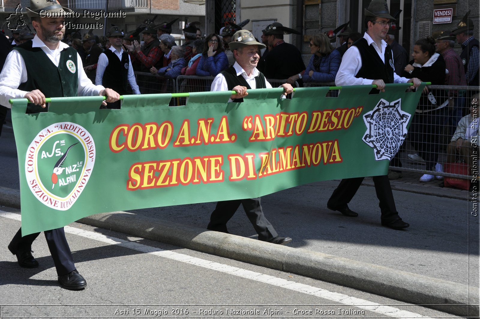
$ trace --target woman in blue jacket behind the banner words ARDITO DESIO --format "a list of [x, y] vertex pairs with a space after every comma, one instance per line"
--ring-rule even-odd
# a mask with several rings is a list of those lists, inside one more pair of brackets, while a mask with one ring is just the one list
[[342, 58], [340, 52], [332, 47], [328, 37], [323, 33], [312, 36], [310, 51], [312, 58], [303, 74], [303, 82], [335, 82]]

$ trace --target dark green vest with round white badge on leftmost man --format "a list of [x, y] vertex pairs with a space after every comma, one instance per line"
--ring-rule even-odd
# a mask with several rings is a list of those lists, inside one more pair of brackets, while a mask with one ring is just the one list
[[[18, 88], [23, 91], [40, 90], [46, 98], [76, 97], [78, 91], [77, 51], [71, 47], [60, 52], [57, 67], [40, 48], [32, 48], [27, 41], [14, 48], [25, 62], [27, 81]], [[39, 105], [29, 103], [27, 114], [46, 112]]]

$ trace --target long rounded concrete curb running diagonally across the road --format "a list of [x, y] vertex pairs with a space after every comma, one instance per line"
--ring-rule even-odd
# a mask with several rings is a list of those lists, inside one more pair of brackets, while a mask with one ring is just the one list
[[[20, 191], [0, 187], [0, 204], [20, 208]], [[416, 305], [425, 305], [462, 317], [479, 316], [478, 289], [456, 282], [308, 249], [274, 245], [237, 235], [205, 231], [198, 227], [145, 218], [124, 211], [96, 214], [78, 222], [271, 269], [288, 271]]]

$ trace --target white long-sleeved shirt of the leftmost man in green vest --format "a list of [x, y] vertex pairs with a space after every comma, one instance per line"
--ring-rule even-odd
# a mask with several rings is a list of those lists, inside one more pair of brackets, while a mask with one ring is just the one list
[[[59, 47], [54, 50], [48, 49], [48, 47], [35, 35], [32, 39], [33, 48], [41, 48], [48, 58], [58, 67], [60, 63], [60, 51], [68, 48], [68, 44], [59, 42]], [[95, 86], [92, 81], [86, 76], [84, 72], [84, 66], [82, 59], [77, 53], [77, 74], [78, 74], [78, 95], [79, 96], [94, 96], [98, 95], [105, 89], [103, 86]], [[0, 73], [0, 105], [11, 108], [11, 98], [24, 98], [27, 91], [18, 89], [22, 83], [27, 81], [27, 72], [25, 67], [25, 61], [18, 50], [12, 50], [3, 65], [3, 69]], [[47, 97], [50, 98], [50, 97]]]

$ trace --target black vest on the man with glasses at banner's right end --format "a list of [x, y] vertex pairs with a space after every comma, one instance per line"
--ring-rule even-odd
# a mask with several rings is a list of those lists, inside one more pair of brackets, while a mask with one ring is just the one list
[[392, 49], [389, 45], [385, 48], [385, 63], [378, 56], [373, 46], [369, 46], [365, 38], [358, 39], [352, 46], [356, 46], [360, 51], [361, 68], [355, 77], [364, 79], [384, 80], [385, 83], [394, 81], [394, 64], [392, 58]]

